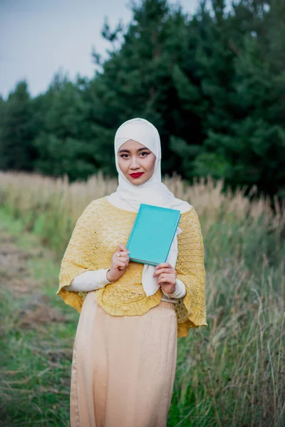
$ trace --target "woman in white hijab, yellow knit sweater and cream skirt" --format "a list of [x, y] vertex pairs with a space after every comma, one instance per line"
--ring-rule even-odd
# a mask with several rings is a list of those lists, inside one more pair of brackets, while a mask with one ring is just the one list
[[[162, 184], [160, 161], [157, 129], [140, 118], [123, 123], [118, 189], [87, 206], [63, 256], [57, 293], [81, 312], [71, 427], [166, 426], [177, 336], [207, 326], [199, 219]], [[182, 214], [167, 263], [156, 268], [130, 262], [125, 247], [141, 203]]]

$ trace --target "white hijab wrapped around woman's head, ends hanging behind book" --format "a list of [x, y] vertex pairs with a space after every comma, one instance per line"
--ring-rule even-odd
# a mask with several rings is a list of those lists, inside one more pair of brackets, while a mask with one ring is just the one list
[[[155, 171], [152, 177], [144, 184], [135, 186], [125, 178], [123, 172], [118, 165], [118, 151], [120, 146], [133, 139], [140, 144], [144, 145], [155, 154]], [[177, 209], [180, 212], [185, 212], [190, 209], [190, 204], [187, 201], [176, 199], [174, 194], [167, 189], [165, 184], [161, 181], [161, 147], [160, 135], [155, 126], [145, 119], [135, 118], [124, 122], [120, 125], [115, 134], [115, 164], [118, 171], [119, 185], [115, 193], [108, 196], [108, 201], [114, 206], [125, 209], [127, 211], [136, 211], [140, 208], [140, 204], [151, 204], [155, 206], [162, 206], [170, 209]], [[177, 228], [175, 238], [173, 239], [170, 253], [167, 262], [175, 268], [178, 248], [177, 248], [177, 235], [182, 231]], [[147, 297], [155, 294], [160, 285], [157, 285], [157, 278], [152, 275], [155, 272], [155, 267], [152, 265], [144, 265], [142, 270], [142, 287], [145, 290]]]

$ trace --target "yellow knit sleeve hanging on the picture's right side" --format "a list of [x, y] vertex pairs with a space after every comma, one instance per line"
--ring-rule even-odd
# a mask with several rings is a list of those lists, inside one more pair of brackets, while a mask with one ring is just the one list
[[177, 305], [180, 336], [190, 327], [207, 326], [205, 306], [204, 244], [199, 218], [192, 207], [180, 220], [182, 233], [178, 236], [177, 279], [185, 284], [186, 295]]

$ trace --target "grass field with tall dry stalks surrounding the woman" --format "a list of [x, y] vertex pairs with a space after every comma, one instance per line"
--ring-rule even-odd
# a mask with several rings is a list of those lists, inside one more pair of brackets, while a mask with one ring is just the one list
[[[284, 206], [210, 179], [165, 183], [201, 221], [209, 323], [178, 340], [167, 426], [283, 427]], [[59, 264], [78, 216], [115, 185], [0, 173], [3, 426], [68, 426], [78, 314], [56, 296]]]

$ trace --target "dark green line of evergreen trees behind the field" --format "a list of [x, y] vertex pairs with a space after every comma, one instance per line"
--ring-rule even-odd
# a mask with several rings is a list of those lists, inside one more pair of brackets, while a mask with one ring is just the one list
[[127, 26], [103, 24], [93, 78], [56, 74], [36, 97], [21, 81], [0, 97], [0, 169], [112, 176], [115, 130], [144, 117], [163, 174], [285, 197], [284, 0], [202, 0], [192, 16], [166, 0], [130, 7]]

